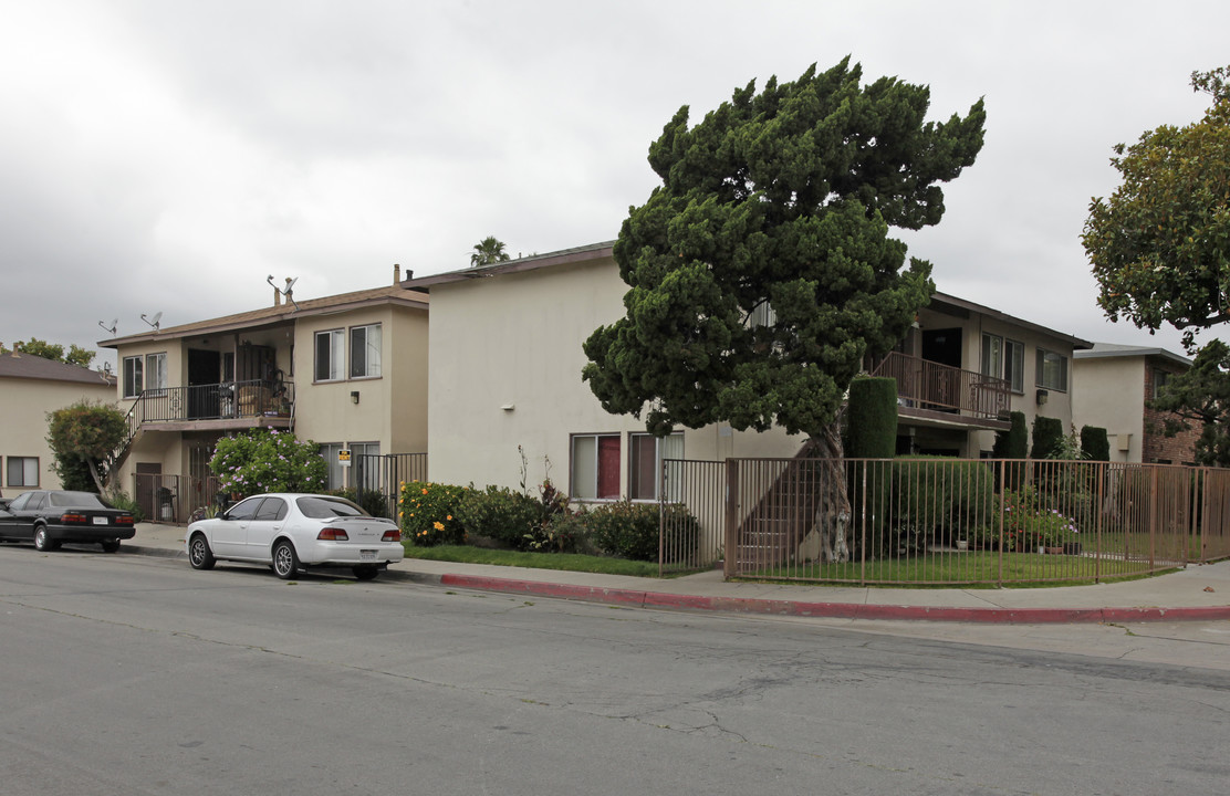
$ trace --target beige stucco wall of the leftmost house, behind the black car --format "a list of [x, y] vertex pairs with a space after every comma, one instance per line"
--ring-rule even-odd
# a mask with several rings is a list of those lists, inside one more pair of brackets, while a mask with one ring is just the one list
[[0, 492], [15, 497], [25, 488], [9, 486], [9, 456], [38, 459], [38, 487], [60, 488], [47, 444], [47, 413], [77, 401], [114, 402], [116, 389], [98, 378], [97, 386], [43, 379], [0, 379]]

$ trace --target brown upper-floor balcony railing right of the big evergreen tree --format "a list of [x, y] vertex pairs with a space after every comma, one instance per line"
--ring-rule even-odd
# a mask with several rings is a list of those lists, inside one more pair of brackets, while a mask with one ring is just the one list
[[871, 375], [897, 379], [897, 396], [910, 407], [984, 420], [999, 420], [1009, 411], [1009, 383], [973, 370], [893, 351]]

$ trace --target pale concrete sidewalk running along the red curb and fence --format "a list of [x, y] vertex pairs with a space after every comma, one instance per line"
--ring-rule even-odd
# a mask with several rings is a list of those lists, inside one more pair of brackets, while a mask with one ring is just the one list
[[[141, 523], [121, 555], [187, 559], [184, 530]], [[643, 608], [781, 616], [1001, 624], [1230, 620], [1230, 561], [1118, 583], [1010, 589], [733, 583], [721, 572], [658, 579], [417, 559], [406, 559], [380, 577]]]

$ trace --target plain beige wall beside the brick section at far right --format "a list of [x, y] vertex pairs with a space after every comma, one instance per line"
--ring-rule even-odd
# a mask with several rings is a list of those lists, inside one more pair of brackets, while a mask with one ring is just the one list
[[[1145, 358], [1076, 359], [1076, 424], [1098, 426], [1111, 439], [1111, 461], [1140, 461], [1144, 439]], [[1121, 450], [1127, 437], [1128, 450]]]

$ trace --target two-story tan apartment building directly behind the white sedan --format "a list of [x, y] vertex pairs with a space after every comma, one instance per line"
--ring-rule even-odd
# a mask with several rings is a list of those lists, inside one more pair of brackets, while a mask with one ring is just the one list
[[100, 342], [116, 349], [133, 434], [119, 484], [148, 512], [151, 491], [170, 490], [182, 520], [209, 501], [208, 461], [225, 434], [274, 428], [320, 443], [330, 487], [351, 482], [341, 450], [426, 450], [428, 300], [400, 283], [395, 267], [390, 287], [285, 301], [276, 292], [261, 310]]

